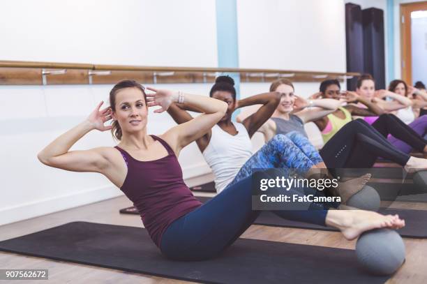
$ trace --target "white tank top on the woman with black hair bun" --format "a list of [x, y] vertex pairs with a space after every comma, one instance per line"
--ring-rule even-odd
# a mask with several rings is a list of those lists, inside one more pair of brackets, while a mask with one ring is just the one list
[[213, 126], [204, 159], [215, 174], [216, 192], [220, 193], [236, 177], [246, 160], [253, 155], [252, 142], [243, 124], [234, 123], [237, 135], [231, 135], [218, 125]]

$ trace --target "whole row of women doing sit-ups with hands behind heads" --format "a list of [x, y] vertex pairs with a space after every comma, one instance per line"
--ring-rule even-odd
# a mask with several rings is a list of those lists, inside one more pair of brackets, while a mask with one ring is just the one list
[[[145, 88], [125, 80], [110, 91], [109, 107], [101, 109], [101, 102], [87, 119], [40, 151], [38, 158], [52, 167], [105, 175], [137, 207], [151, 239], [164, 255], [175, 260], [203, 260], [233, 244], [259, 216], [260, 211], [252, 209], [252, 180], [254, 176], [268, 179], [271, 173], [253, 172], [255, 168], [280, 168], [284, 175], [297, 171], [308, 176], [340, 167], [372, 167], [381, 157], [407, 171], [427, 169], [427, 160], [409, 155], [412, 149], [427, 151], [427, 121], [424, 117], [415, 119], [415, 115], [409, 121], [407, 115], [413, 108], [427, 105], [424, 95], [403, 81], [391, 84], [389, 91], [375, 93], [373, 78], [368, 76], [360, 77], [356, 92], [345, 94], [340, 92], [338, 81], [325, 81], [320, 94], [308, 101], [295, 96], [287, 80], [278, 80], [269, 92], [243, 100], [236, 99], [234, 82], [227, 76], [217, 78], [209, 97]], [[383, 100], [385, 97], [391, 100]], [[242, 113], [241, 122], [232, 122], [234, 110], [249, 105], [261, 107]], [[178, 124], [158, 136], [147, 134], [148, 108], [155, 106], [159, 108], [154, 112], [167, 111]], [[193, 118], [188, 110], [201, 114]], [[400, 121], [400, 115], [407, 117], [409, 124]], [[352, 120], [352, 116], [370, 120]], [[112, 125], [106, 126], [110, 120]], [[314, 121], [322, 131], [325, 144], [320, 151], [308, 140], [304, 130], [308, 121]], [[111, 130], [119, 144], [70, 151], [91, 130]], [[253, 154], [250, 137], [257, 131], [264, 133], [266, 144]], [[215, 174], [218, 194], [205, 204], [183, 182], [177, 160], [181, 149], [193, 141]], [[369, 178], [370, 174], [365, 174], [340, 182], [338, 191], [325, 194], [340, 195], [345, 203]], [[288, 194], [306, 192], [291, 188]], [[375, 228], [405, 225], [397, 215], [340, 210], [340, 206], [313, 202], [306, 210], [274, 213], [336, 227], [346, 239]]]

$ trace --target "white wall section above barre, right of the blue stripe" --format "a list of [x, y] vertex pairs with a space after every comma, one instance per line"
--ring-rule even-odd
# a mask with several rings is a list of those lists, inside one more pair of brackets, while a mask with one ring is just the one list
[[241, 68], [345, 72], [343, 0], [238, 0]]

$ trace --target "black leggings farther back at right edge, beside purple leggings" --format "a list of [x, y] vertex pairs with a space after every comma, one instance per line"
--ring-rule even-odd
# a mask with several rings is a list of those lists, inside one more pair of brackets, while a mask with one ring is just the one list
[[426, 147], [427, 141], [394, 114], [381, 114], [372, 126], [382, 136], [387, 138], [391, 134], [420, 152]]

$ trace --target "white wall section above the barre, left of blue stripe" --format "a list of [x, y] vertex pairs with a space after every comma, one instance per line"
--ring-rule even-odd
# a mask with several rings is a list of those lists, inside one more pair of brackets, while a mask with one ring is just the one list
[[217, 63], [215, 0], [1, 1], [0, 27], [3, 60]]

